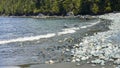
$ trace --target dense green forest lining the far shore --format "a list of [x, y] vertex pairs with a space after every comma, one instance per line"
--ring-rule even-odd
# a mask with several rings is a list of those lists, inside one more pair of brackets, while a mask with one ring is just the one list
[[0, 15], [102, 14], [120, 11], [120, 0], [0, 0]]

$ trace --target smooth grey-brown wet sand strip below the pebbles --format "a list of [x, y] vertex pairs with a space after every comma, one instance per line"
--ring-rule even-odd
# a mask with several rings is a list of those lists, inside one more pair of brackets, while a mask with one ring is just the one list
[[59, 64], [41, 64], [41, 65], [33, 65], [30, 68], [115, 68], [113, 65], [106, 66], [92, 66], [91, 64], [81, 64], [80, 66], [76, 65], [76, 63], [59, 63]]

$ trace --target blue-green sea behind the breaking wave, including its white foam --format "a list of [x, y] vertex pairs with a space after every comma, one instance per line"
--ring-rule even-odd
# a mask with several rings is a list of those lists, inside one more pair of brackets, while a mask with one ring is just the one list
[[[50, 38], [74, 33], [93, 25], [96, 20], [0, 18], [0, 44]], [[65, 28], [66, 27], [66, 28]]]

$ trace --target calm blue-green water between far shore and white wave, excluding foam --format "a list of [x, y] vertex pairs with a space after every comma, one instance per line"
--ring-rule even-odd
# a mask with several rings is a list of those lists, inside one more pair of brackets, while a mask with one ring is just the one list
[[[94, 20], [93, 20], [94, 21]], [[0, 39], [36, 36], [62, 31], [64, 25], [90, 24], [79, 19], [32, 19], [32, 18], [0, 18]]]

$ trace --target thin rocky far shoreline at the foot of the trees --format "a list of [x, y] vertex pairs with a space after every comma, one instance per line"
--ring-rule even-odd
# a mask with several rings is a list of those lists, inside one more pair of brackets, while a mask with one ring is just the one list
[[[119, 12], [111, 12], [112, 14], [116, 14], [116, 13], [119, 13]], [[105, 13], [105, 14], [111, 14], [111, 13]], [[105, 14], [101, 14], [101, 15], [105, 15]], [[7, 15], [1, 15], [0, 17], [11, 17], [11, 18], [35, 18], [35, 19], [46, 19], [46, 18], [80, 18], [80, 19], [86, 19], [86, 20], [89, 20], [89, 19], [96, 19], [96, 18], [99, 18], [100, 14], [96, 14], [96, 15], [70, 15], [70, 16], [57, 16], [57, 15], [52, 15], [52, 16], [47, 16], [47, 15], [31, 15], [31, 16], [26, 16], [26, 15], [21, 15], [21, 16], [14, 16], [14, 15], [11, 15], [11, 16], [7, 16]]]

